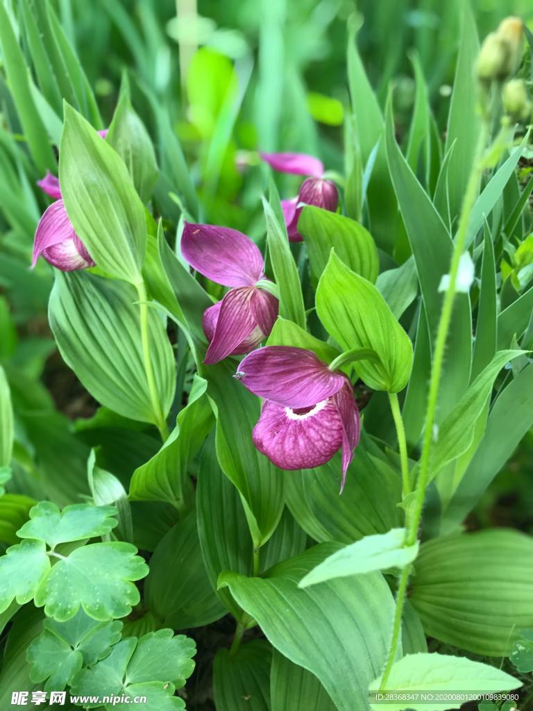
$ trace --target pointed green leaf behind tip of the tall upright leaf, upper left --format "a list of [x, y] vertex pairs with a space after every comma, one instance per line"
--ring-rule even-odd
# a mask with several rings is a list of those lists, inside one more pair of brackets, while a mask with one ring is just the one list
[[143, 203], [147, 203], [158, 178], [156, 154], [144, 123], [131, 106], [129, 83], [124, 74], [117, 108], [109, 124], [106, 141], [126, 164]]

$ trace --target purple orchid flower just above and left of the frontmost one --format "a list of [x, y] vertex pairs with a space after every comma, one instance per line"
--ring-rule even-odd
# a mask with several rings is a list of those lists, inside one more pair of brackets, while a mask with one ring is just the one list
[[203, 330], [210, 342], [204, 363], [259, 346], [272, 330], [279, 306], [275, 296], [256, 287], [264, 279], [259, 247], [237, 230], [185, 223], [181, 253], [204, 277], [232, 287], [222, 301], [204, 311]]

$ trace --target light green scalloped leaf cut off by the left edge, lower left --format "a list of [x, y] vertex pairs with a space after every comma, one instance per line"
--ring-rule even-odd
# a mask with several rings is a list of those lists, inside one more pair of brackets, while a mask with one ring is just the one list
[[29, 602], [49, 570], [50, 560], [42, 541], [23, 540], [9, 547], [0, 557], [0, 612], [14, 599], [21, 605]]

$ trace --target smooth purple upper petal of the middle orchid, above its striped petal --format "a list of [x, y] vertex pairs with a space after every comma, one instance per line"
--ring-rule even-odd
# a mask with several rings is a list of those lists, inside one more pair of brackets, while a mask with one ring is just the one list
[[263, 276], [259, 247], [230, 228], [185, 223], [181, 253], [193, 269], [225, 287], [253, 287]]

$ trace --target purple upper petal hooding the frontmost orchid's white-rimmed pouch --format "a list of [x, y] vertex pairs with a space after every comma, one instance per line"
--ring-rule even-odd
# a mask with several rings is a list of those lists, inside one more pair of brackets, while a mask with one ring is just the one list
[[345, 376], [332, 373], [312, 351], [264, 346], [239, 363], [237, 378], [259, 397], [286, 407], [311, 407], [335, 395]]

